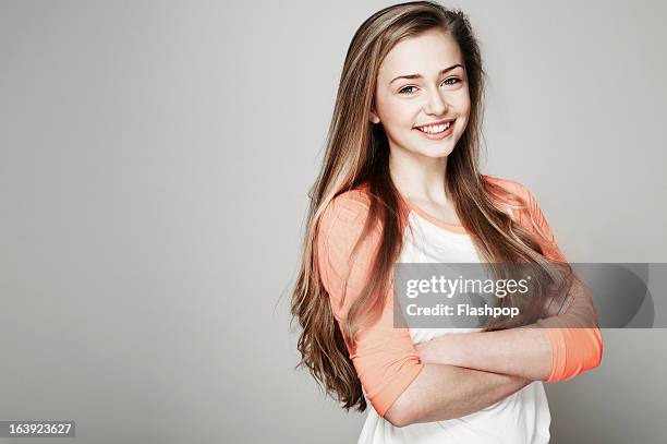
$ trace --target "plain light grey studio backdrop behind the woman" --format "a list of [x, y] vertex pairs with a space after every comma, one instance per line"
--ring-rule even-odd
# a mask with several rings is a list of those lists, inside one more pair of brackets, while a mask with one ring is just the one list
[[[344, 52], [387, 4], [0, 2], [0, 419], [356, 441], [364, 416], [293, 370], [288, 289]], [[484, 170], [570, 261], [666, 262], [664, 3], [447, 4], [489, 74]], [[604, 337], [547, 387], [553, 442], [663, 442], [665, 331]]]

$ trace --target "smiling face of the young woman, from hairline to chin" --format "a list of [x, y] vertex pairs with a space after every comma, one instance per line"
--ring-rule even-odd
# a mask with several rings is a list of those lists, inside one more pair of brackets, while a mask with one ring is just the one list
[[470, 94], [461, 50], [439, 29], [397, 44], [380, 64], [371, 121], [390, 149], [446, 157], [468, 124]]

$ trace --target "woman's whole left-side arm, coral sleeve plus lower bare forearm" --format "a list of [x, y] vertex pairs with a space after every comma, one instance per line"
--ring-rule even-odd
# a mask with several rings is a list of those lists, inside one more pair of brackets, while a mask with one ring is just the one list
[[[352, 247], [367, 212], [363, 194], [339, 197], [323, 215], [317, 237], [317, 265], [341, 332], [342, 322], [368, 278], [379, 231], [359, 253]], [[391, 283], [392, 284], [392, 283]], [[393, 425], [459, 418], [488, 407], [531, 381], [506, 374], [423, 363], [407, 328], [393, 327], [392, 285], [376, 323], [361, 328], [350, 359], [373, 408]]]

